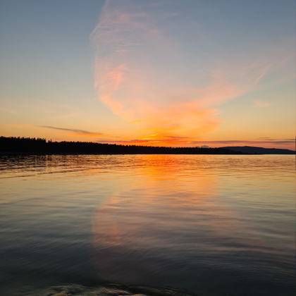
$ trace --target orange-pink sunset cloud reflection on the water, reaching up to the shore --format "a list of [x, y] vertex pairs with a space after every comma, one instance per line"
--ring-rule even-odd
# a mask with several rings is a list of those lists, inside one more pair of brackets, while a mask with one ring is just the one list
[[[222, 179], [228, 189], [219, 185], [216, 170], [222, 157], [146, 155], [132, 160], [125, 185], [94, 211], [92, 264], [100, 278], [128, 284], [154, 276], [155, 283], [155, 276], [171, 274], [181, 262], [198, 267], [209, 254], [216, 260], [250, 250], [273, 252], [244, 206], [252, 187], [236, 195], [242, 178], [236, 168]], [[231, 161], [238, 167], [242, 159], [228, 157], [226, 163]], [[192, 262], [190, 256], [202, 258]]]

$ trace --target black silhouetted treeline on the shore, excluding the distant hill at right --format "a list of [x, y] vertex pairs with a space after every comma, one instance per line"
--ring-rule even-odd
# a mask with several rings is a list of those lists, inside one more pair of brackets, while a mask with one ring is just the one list
[[153, 147], [94, 142], [52, 142], [43, 138], [0, 137], [0, 152], [37, 154], [243, 154], [222, 148]]

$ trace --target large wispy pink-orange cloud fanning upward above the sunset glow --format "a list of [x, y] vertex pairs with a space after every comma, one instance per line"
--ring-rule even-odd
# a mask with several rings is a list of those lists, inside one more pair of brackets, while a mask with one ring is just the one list
[[[174, 39], [176, 28], [190, 30], [188, 37]], [[229, 55], [226, 61], [213, 54], [205, 63], [182, 48], [183, 42], [195, 39], [190, 43], [192, 51], [206, 51], [211, 42], [205, 40], [211, 37], [204, 37], [201, 30], [181, 11], [164, 13], [141, 0], [106, 1], [91, 35], [94, 87], [101, 101], [135, 125], [135, 130], [159, 133], [164, 144], [168, 136], [197, 140], [218, 128], [219, 104], [254, 90], [268, 73], [291, 58], [283, 47], [264, 49], [256, 57]], [[217, 45], [212, 42], [211, 51], [218, 56]], [[258, 100], [254, 104], [269, 106]]]

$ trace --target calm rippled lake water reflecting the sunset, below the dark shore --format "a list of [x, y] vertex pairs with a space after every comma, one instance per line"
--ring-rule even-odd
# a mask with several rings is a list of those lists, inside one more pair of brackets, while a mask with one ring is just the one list
[[0, 168], [0, 295], [295, 295], [293, 155], [1, 156]]

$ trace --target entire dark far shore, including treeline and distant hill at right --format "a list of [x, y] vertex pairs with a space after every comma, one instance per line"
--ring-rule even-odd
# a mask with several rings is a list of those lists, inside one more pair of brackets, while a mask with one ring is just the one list
[[137, 154], [190, 154], [190, 155], [258, 155], [295, 154], [289, 149], [251, 146], [157, 147], [107, 144], [98, 142], [52, 142], [42, 138], [0, 137], [0, 155], [137, 155]]

